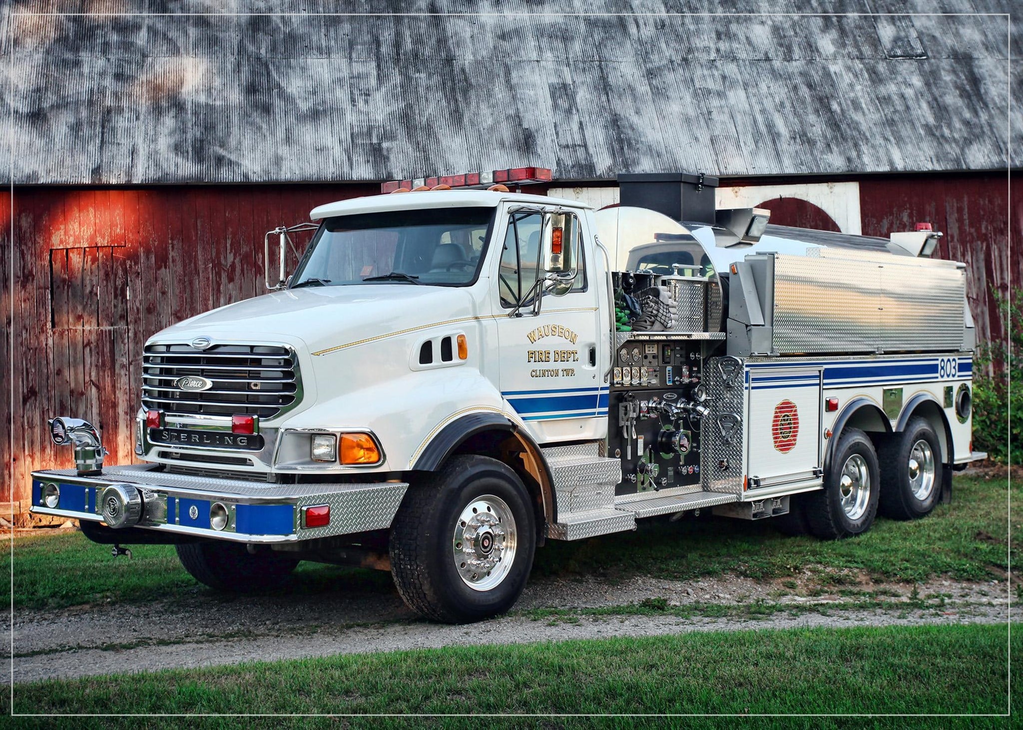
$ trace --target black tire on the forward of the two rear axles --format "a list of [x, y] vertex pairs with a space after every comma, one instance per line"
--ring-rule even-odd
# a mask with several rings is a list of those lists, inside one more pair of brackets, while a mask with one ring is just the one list
[[[843, 471], [861, 474], [860, 481], [850, 480], [843, 483]], [[860, 494], [857, 485], [868, 487], [862, 503], [858, 502]], [[821, 540], [837, 540], [854, 535], [861, 535], [874, 524], [878, 513], [878, 496], [881, 491], [881, 481], [878, 473], [878, 455], [874, 443], [866, 434], [858, 428], [846, 428], [839, 437], [832, 454], [832, 461], [825, 474], [825, 488], [820, 492], [806, 494], [806, 523], [810, 533]], [[843, 497], [847, 493], [850, 507], [855, 505], [852, 513], [843, 507]], [[861, 511], [859, 511], [861, 510]]]

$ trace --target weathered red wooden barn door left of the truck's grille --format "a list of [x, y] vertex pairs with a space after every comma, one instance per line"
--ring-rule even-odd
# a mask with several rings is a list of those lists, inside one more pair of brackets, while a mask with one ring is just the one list
[[124, 247], [50, 250], [51, 415], [100, 428], [108, 463], [131, 462], [139, 402], [130, 372], [129, 269]]

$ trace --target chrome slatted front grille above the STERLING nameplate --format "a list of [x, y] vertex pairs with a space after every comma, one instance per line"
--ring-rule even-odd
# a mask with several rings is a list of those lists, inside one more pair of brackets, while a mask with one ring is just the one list
[[[185, 375], [213, 383], [206, 391], [182, 391]], [[170, 413], [255, 415], [272, 418], [301, 398], [298, 359], [283, 347], [147, 345], [142, 355], [142, 405]]]

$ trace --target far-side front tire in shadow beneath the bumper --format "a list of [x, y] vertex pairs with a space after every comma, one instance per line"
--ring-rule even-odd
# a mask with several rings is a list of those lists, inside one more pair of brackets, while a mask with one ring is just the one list
[[269, 550], [251, 553], [238, 543], [209, 541], [175, 547], [191, 577], [218, 591], [254, 593], [278, 588], [299, 564]]

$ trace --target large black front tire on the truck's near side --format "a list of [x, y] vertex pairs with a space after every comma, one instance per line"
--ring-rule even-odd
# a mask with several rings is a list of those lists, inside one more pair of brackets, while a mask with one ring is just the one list
[[[463, 556], [455, 550], [465, 549], [461, 548], [462, 542], [455, 531], [463, 521], [463, 511], [481, 497], [496, 497], [500, 501], [503, 507], [495, 508], [495, 514], [504, 513], [505, 509], [510, 511], [516, 540], [510, 566], [500, 561], [492, 566], [493, 580], [499, 577], [499, 582], [492, 588], [476, 590], [470, 587], [470, 582], [477, 576], [481, 582], [476, 585], [481, 588], [491, 580], [489, 571], [483, 573], [489, 562], [478, 574], [463, 579], [460, 571], [472, 574], [473, 566], [460, 567], [466, 562], [455, 560], [456, 555]], [[469, 517], [468, 521], [474, 523], [476, 517], [472, 514]], [[490, 519], [490, 516], [481, 513], [480, 518]], [[508, 520], [504, 519], [503, 524], [507, 528]], [[494, 531], [504, 528], [492, 526]], [[468, 526], [468, 531], [474, 529], [473, 524]], [[476, 554], [484, 555], [482, 540], [488, 529], [491, 528], [484, 524], [472, 533], [475, 537], [464, 538], [466, 548], [478, 547], [480, 552]], [[466, 536], [471, 534], [468, 531]], [[484, 560], [494, 559], [500, 550], [508, 554], [506, 541], [511, 531], [503, 538], [495, 535], [497, 532], [492, 535], [491, 552]], [[440, 471], [413, 484], [391, 524], [391, 575], [398, 593], [417, 613], [448, 624], [480, 621], [510, 608], [526, 586], [535, 551], [536, 519], [526, 488], [515, 471], [485, 456], [456, 456]]]

